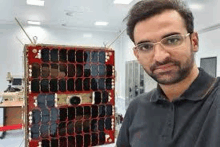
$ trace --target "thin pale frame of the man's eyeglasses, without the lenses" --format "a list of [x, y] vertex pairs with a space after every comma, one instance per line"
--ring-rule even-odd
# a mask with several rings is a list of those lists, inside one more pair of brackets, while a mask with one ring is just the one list
[[[186, 37], [188, 37], [189, 35], [191, 35], [191, 33], [187, 33], [187, 34], [185, 34], [185, 35], [182, 35], [182, 34], [174, 34], [174, 35], [182, 36], [182, 37], [184, 38], [183, 41], [185, 41]], [[174, 36], [174, 35], [170, 35], [170, 36]], [[162, 39], [161, 39], [160, 41], [158, 41], [158, 42], [143, 42], [143, 43], [137, 44], [136, 46], [133, 47], [133, 50], [140, 51], [140, 49], [138, 49], [137, 46], [139, 46], [139, 45], [141, 45], [141, 44], [145, 44], [145, 43], [153, 44], [152, 50], [155, 48], [155, 45], [156, 45], [156, 44], [160, 44], [162, 47], [166, 48], [166, 46], [165, 46], [163, 43], [161, 43], [161, 42], [162, 42], [164, 39], [166, 39], [166, 38], [168, 38], [168, 37], [170, 37], [170, 36], [164, 37], [164, 38], [162, 38]], [[183, 43], [183, 42], [182, 42], [182, 43]], [[182, 43], [181, 43], [180, 45], [176, 46], [176, 47], [181, 46]], [[175, 47], [174, 47], [174, 48], [175, 48]], [[151, 50], [144, 50], [144, 51], [142, 50], [142, 52], [149, 52], [149, 51], [151, 51]]]

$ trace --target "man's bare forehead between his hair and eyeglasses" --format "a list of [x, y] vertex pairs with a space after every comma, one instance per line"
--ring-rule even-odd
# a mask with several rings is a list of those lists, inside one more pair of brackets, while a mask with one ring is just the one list
[[160, 14], [147, 18], [136, 24], [134, 28], [134, 40], [143, 38], [150, 39], [151, 37], [162, 37], [171, 32], [186, 31], [184, 19], [175, 10], [166, 10]]

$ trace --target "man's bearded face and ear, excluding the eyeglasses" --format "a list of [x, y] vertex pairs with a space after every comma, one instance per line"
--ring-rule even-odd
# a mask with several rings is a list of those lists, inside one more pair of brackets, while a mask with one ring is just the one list
[[[161, 14], [138, 22], [134, 28], [135, 45], [140, 42], [158, 42], [165, 36], [186, 35], [183, 18], [175, 10], [166, 10]], [[182, 81], [191, 72], [194, 53], [198, 50], [197, 33], [187, 36], [183, 43], [174, 49], [156, 44], [152, 51], [143, 53], [134, 50], [139, 63], [158, 83], [169, 85]]]

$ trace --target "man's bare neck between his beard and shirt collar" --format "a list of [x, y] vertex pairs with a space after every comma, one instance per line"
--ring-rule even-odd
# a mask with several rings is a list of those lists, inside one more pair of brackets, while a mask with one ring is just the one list
[[190, 74], [182, 81], [172, 85], [159, 84], [167, 99], [172, 102], [174, 99], [180, 97], [197, 78], [199, 70], [196, 65], [193, 66]]

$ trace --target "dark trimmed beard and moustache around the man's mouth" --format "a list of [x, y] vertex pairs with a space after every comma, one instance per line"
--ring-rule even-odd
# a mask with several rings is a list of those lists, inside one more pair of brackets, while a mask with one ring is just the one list
[[[171, 59], [171, 58], [166, 58], [163, 62], [156, 62], [150, 67], [150, 72], [147, 71], [145, 68], [145, 72], [152, 77], [155, 81], [157, 81], [159, 84], [163, 85], [171, 85], [178, 83], [182, 80], [184, 80], [191, 72], [193, 65], [194, 65], [194, 53], [191, 48], [191, 55], [187, 60], [182, 63], [180, 61]], [[160, 73], [154, 73], [154, 70], [157, 69], [158, 66], [161, 65], [166, 65], [166, 64], [173, 64], [178, 68], [177, 71], [165, 71], [165, 72], [160, 72]]]

